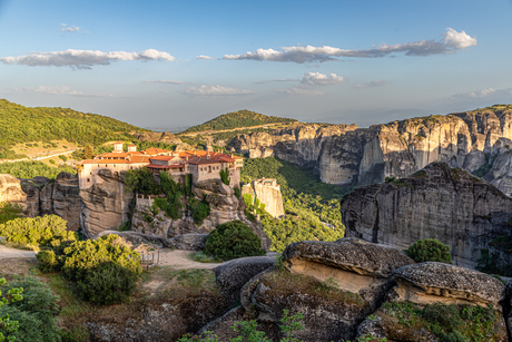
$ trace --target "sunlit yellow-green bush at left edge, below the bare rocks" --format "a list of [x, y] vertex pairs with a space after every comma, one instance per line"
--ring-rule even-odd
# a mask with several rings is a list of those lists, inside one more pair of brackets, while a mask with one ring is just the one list
[[77, 240], [77, 234], [69, 232], [66, 221], [57, 215], [11, 219], [0, 224], [0, 236], [16, 246], [36, 250], [59, 246], [63, 242]]

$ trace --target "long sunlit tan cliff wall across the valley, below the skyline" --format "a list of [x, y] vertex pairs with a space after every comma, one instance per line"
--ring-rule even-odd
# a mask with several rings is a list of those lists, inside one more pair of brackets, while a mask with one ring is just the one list
[[296, 125], [240, 135], [229, 144], [253, 158], [276, 156], [314, 165], [323, 182], [351, 185], [405, 177], [433, 162], [473, 170], [500, 138], [512, 138], [512, 110], [496, 107], [360, 129]]

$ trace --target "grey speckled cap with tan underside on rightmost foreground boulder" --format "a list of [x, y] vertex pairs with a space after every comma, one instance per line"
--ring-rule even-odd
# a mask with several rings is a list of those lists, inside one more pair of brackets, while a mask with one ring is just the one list
[[443, 297], [450, 304], [477, 303], [500, 306], [505, 286], [495, 277], [474, 270], [443, 263], [421, 263], [393, 272], [402, 301], [416, 304], [435, 303]]

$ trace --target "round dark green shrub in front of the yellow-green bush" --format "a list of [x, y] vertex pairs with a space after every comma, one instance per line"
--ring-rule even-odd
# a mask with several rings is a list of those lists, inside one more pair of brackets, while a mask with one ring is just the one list
[[88, 270], [77, 284], [80, 296], [96, 304], [125, 302], [137, 286], [138, 274], [114, 262]]

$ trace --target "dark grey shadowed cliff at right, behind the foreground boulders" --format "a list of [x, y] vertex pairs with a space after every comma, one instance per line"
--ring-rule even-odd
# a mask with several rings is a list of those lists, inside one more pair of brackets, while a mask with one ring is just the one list
[[512, 198], [445, 163], [360, 187], [343, 198], [341, 211], [346, 236], [398, 250], [436, 238], [451, 246], [459, 265], [474, 266], [491, 241], [512, 234]]

